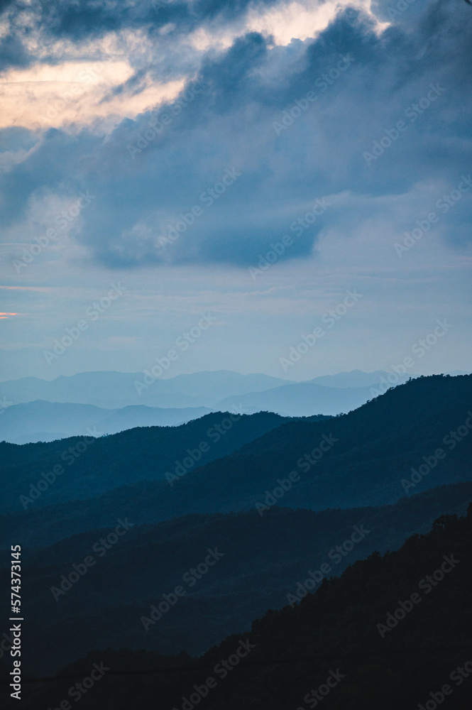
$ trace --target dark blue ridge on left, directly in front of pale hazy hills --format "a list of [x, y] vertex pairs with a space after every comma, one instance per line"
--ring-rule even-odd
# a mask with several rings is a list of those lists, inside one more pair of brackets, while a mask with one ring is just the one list
[[138, 427], [109, 437], [23, 446], [0, 442], [0, 513], [98, 496], [145, 479], [161, 480], [170, 488], [166, 472], [178, 479], [284, 421], [267, 412], [217, 413], [179, 427]]

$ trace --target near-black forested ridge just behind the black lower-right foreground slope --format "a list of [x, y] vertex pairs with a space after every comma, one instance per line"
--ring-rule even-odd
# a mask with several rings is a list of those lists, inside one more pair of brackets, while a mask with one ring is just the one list
[[[438, 515], [465, 513], [468, 501], [472, 483], [382, 508], [274, 508], [264, 518], [251, 510], [158, 525], [133, 525], [124, 516], [109, 528], [34, 551], [20, 535], [23, 604], [31, 618], [24, 660], [38, 672], [53, 672], [89, 648], [204, 652], [247, 630], [268, 608], [297, 603], [305, 586], [314, 589], [374, 550], [397, 549], [413, 532], [429, 530]], [[156, 624], [151, 608], [172, 599], [179, 585], [185, 594]], [[53, 633], [58, 624], [60, 647]]]

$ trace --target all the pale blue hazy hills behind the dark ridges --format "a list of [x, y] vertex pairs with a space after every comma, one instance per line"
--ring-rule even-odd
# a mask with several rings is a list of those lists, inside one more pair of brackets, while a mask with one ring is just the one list
[[[142, 426], [175, 426], [209, 411], [270, 411], [305, 417], [348, 412], [389, 386], [388, 373], [354, 370], [293, 383], [262, 374], [199, 372], [144, 382], [143, 373], [86, 372], [53, 381], [28, 377], [0, 383], [0, 440], [15, 444], [103, 434]], [[405, 381], [405, 376], [394, 379]]]

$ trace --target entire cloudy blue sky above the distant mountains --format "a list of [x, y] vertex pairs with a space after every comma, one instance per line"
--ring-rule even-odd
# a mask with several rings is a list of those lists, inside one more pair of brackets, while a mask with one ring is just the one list
[[471, 31], [463, 0], [2, 0], [0, 379], [471, 371]]

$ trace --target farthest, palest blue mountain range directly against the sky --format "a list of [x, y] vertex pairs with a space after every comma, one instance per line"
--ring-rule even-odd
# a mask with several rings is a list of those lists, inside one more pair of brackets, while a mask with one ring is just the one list
[[[142, 372], [82, 372], [52, 381], [26, 377], [4, 382], [1, 393], [9, 406], [43, 400], [114, 410], [130, 405], [160, 409], [204, 407], [214, 411], [242, 408], [246, 413], [270, 410], [283, 416], [304, 417], [348, 412], [383, 391], [381, 385], [390, 386], [391, 378], [391, 374], [381, 370], [372, 373], [354, 370], [298, 383], [260, 373], [241, 375], [226, 370], [168, 379], [150, 376], [145, 379]], [[406, 379], [407, 376], [395, 376], [393, 384]]]

